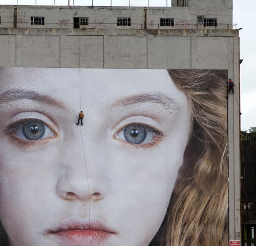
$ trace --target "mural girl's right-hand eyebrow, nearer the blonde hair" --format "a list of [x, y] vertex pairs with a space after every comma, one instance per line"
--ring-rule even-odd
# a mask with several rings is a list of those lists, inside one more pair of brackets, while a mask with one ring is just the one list
[[146, 94], [135, 94], [132, 96], [121, 97], [110, 108], [113, 107], [125, 107], [134, 104], [151, 103], [160, 105], [163, 108], [177, 111], [179, 110], [175, 100], [166, 96], [163, 93], [146, 93]]

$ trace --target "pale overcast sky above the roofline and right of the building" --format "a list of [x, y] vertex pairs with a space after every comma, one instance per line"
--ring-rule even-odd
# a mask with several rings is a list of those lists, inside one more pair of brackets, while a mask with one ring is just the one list
[[[0, 0], [4, 5], [68, 5], [68, 0]], [[92, 2], [93, 1], [93, 2]], [[202, 0], [204, 1], [204, 0]], [[94, 6], [166, 6], [166, 0], [70, 0], [70, 5], [93, 5]], [[171, 0], [167, 0], [170, 6]], [[233, 23], [237, 23], [236, 29], [240, 31], [240, 59], [241, 64], [241, 130], [256, 127], [256, 80], [252, 74], [256, 59], [256, 34], [253, 31], [253, 18], [255, 14], [254, 0], [233, 0]], [[254, 58], [254, 59], [253, 59]], [[233, 78], [231, 78], [233, 80]], [[238, 81], [234, 80], [235, 84]], [[236, 102], [239, 102], [239, 95]]]

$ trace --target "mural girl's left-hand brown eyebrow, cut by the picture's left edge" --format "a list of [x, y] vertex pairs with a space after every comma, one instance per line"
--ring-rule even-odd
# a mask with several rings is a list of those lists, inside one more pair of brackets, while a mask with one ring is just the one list
[[3, 92], [0, 95], [0, 104], [6, 104], [15, 100], [27, 99], [32, 100], [44, 104], [49, 104], [59, 108], [65, 108], [65, 106], [53, 99], [53, 97], [49, 95], [44, 95], [40, 92], [33, 91], [33, 90], [25, 90], [25, 89], [10, 89]]

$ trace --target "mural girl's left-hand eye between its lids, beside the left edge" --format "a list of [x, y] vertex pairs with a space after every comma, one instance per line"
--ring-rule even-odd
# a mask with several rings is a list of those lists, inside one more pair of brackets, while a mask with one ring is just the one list
[[20, 139], [35, 141], [47, 137], [54, 137], [55, 133], [42, 121], [38, 119], [24, 119], [8, 128]]

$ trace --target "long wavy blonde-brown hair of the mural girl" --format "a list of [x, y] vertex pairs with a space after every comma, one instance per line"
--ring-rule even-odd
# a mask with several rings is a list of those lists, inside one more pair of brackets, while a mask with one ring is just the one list
[[168, 70], [186, 93], [191, 137], [167, 212], [167, 245], [228, 245], [227, 70]]

